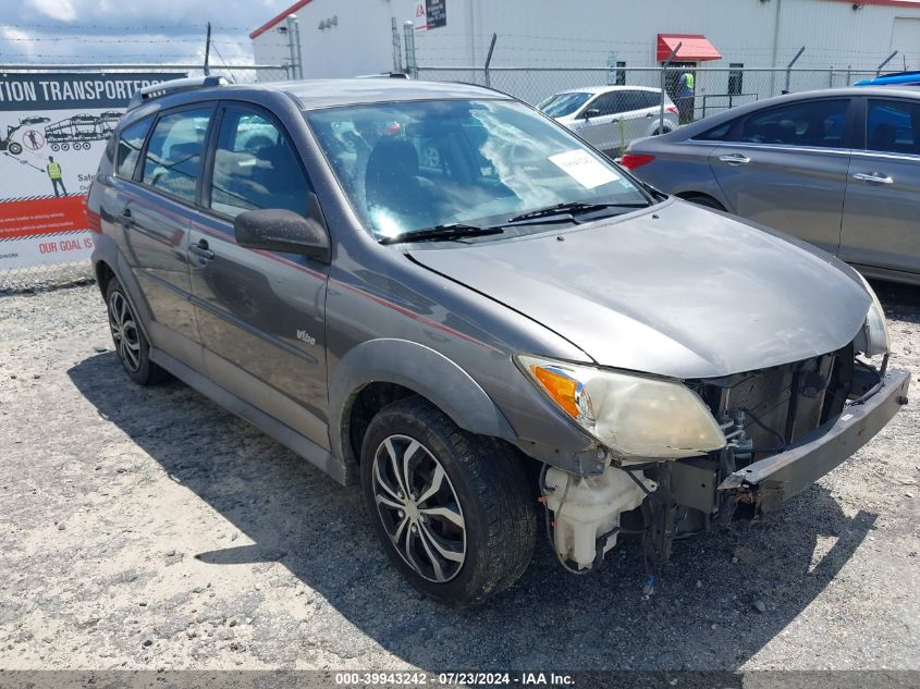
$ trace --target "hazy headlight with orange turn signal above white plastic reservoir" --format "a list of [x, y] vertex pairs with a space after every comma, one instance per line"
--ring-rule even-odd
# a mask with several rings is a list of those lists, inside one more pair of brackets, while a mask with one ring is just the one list
[[520, 369], [621, 457], [677, 458], [725, 446], [699, 395], [680, 383], [518, 355]]

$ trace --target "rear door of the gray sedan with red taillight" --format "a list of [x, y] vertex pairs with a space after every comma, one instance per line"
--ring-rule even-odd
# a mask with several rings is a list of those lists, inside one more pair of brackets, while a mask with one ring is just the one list
[[729, 210], [835, 254], [854, 107], [849, 98], [794, 101], [739, 120], [709, 157]]

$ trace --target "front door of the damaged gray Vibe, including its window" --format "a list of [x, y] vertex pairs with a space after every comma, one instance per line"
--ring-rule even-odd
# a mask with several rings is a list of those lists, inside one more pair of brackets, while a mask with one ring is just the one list
[[316, 197], [299, 153], [274, 115], [236, 102], [221, 107], [210, 149], [204, 210], [188, 245], [208, 377], [328, 447], [329, 267], [241, 247], [233, 232], [233, 219], [247, 210], [310, 212]]

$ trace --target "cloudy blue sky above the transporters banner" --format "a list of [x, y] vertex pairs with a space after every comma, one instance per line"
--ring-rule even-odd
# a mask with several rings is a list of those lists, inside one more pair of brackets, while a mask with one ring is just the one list
[[197, 64], [209, 21], [211, 64], [250, 64], [249, 33], [293, 1], [0, 0], [0, 65]]

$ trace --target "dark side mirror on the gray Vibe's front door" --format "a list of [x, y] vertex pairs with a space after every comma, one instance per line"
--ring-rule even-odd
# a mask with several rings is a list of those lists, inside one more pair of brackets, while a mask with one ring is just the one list
[[[315, 198], [310, 200], [319, 212]], [[247, 249], [299, 254], [323, 263], [331, 260], [326, 223], [312, 217], [283, 209], [247, 210], [233, 220], [233, 232], [236, 243]]]

